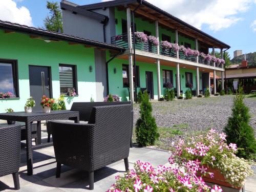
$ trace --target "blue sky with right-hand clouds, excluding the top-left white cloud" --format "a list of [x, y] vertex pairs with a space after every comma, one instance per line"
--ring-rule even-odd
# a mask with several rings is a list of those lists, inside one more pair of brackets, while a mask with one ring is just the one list
[[[32, 17], [32, 25], [43, 26], [44, 18], [48, 14], [46, 0], [1, 1], [14, 1], [18, 9], [24, 6]], [[100, 0], [70, 1], [79, 5], [100, 2]], [[228, 52], [231, 58], [234, 50], [241, 49], [243, 53], [256, 51], [256, 0], [209, 0], [207, 4], [205, 0], [148, 1], [230, 45], [231, 49]], [[181, 2], [185, 4], [183, 5]], [[212, 6], [209, 6], [210, 3]], [[1, 4], [2, 2], [0, 2], [0, 10]], [[177, 9], [177, 7], [182, 7], [182, 9]], [[8, 19], [7, 15], [4, 18]], [[1, 13], [0, 19], [3, 19]], [[12, 21], [11, 17], [9, 20]], [[255, 25], [253, 26], [254, 21]]]

